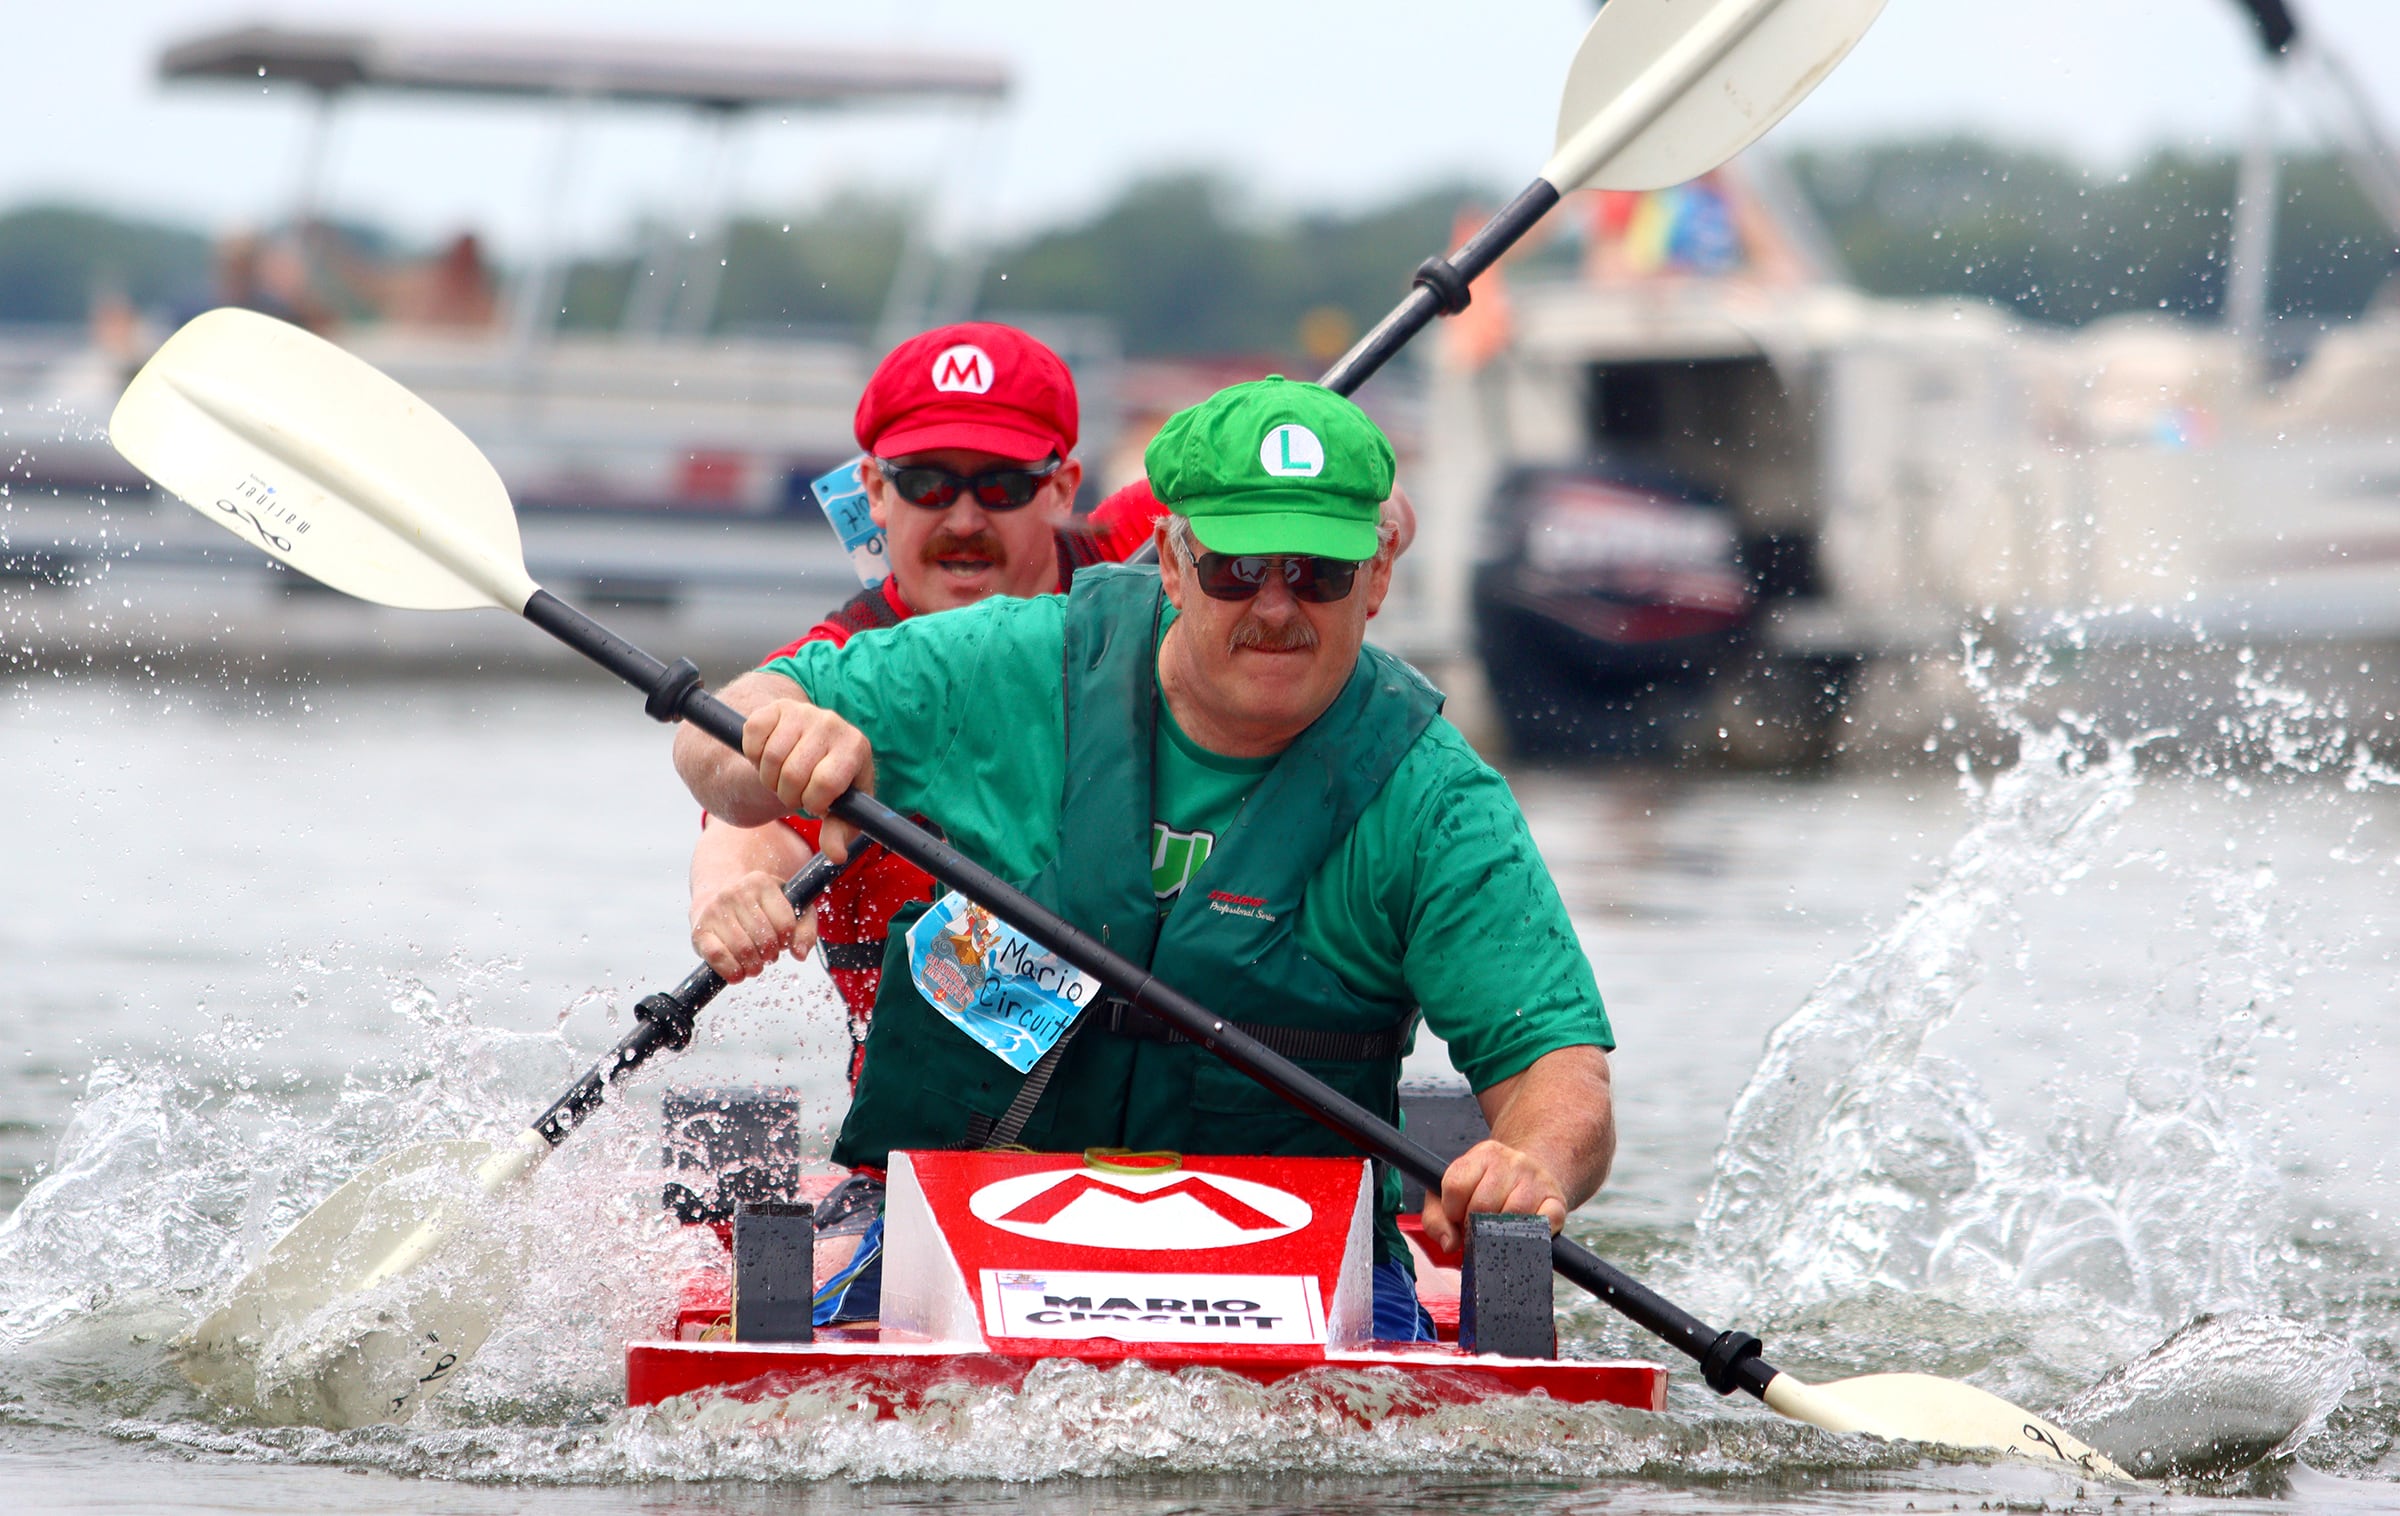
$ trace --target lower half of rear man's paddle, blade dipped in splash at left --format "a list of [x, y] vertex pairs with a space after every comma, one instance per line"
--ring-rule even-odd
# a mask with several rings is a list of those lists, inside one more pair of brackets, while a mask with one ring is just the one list
[[[298, 521], [286, 525], [298, 533]], [[804, 912], [840, 873], [842, 864], [818, 854], [785, 883], [785, 900]], [[672, 991], [643, 998], [634, 1029], [511, 1142], [420, 1142], [334, 1190], [223, 1305], [175, 1338], [185, 1377], [281, 1425], [362, 1427], [415, 1415], [492, 1334], [523, 1274], [518, 1238], [490, 1214], [492, 1197], [566, 1142], [610, 1084], [653, 1053], [684, 1048], [722, 988], [725, 979], [701, 964]], [[439, 1267], [418, 1274], [437, 1257]]]

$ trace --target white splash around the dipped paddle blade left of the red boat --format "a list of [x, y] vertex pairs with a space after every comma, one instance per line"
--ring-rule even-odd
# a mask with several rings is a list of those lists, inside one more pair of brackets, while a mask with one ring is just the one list
[[[562, 1039], [475, 1027], [461, 1000], [422, 983], [398, 986], [389, 1010], [418, 1034], [410, 1055], [358, 1070], [329, 1099], [247, 1089], [240, 1063], [259, 1039], [242, 1024], [173, 1065], [94, 1067], [55, 1171], [0, 1223], [0, 1353], [19, 1391], [10, 1415], [74, 1427], [223, 1420], [173, 1367], [170, 1341], [367, 1161], [420, 1139], [506, 1137], [530, 1108], [523, 1089], [562, 1082], [574, 1065]], [[629, 1123], [595, 1123], [581, 1161], [562, 1166], [564, 1183], [528, 1192], [526, 1223], [559, 1238], [631, 1219], [617, 1192], [634, 1168], [626, 1142], [646, 1137]], [[672, 1269], [641, 1264], [686, 1245], [660, 1226], [617, 1231], [617, 1262], [634, 1269], [583, 1291], [581, 1274], [600, 1262], [554, 1250], [528, 1279], [526, 1307], [545, 1317], [552, 1341], [574, 1341], [578, 1322], [602, 1317], [619, 1343], [631, 1326], [626, 1291], [643, 1293], [636, 1310], [658, 1315]], [[612, 1353], [581, 1367], [610, 1362]], [[569, 1379], [576, 1365], [552, 1355]], [[264, 1367], [274, 1372], [274, 1353]]]

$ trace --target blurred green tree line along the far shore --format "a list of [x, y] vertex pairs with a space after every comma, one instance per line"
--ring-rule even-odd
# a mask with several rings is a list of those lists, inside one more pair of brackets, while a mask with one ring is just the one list
[[[1973, 295], [2035, 321], [2117, 312], [2215, 317], [2225, 295], [2237, 166], [2160, 151], [2124, 173], [1978, 139], [1802, 149], [1788, 156], [1850, 276], [1879, 295]], [[2273, 305], [2290, 317], [2359, 312], [2393, 266], [2393, 237], [2330, 156], [2285, 161]], [[1260, 216], [1222, 178], [1130, 185], [1097, 213], [994, 247], [977, 314], [1099, 314], [1133, 355], [1298, 355], [1344, 338], [1450, 240], [1469, 185], [1354, 213]], [[895, 201], [833, 197], [792, 218], [725, 228], [718, 331], [864, 336], [902, 259]], [[355, 228], [362, 245], [384, 237]], [[564, 278], [564, 324], [614, 326], [638, 245]], [[0, 321], [84, 321], [96, 297], [175, 319], [211, 293], [209, 240], [156, 221], [36, 204], [0, 213]]]

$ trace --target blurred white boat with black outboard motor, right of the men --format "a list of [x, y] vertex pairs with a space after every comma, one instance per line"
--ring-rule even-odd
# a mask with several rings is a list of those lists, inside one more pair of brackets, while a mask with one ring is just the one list
[[[1766, 154], [1586, 194], [1574, 257], [1478, 285], [1426, 396], [1411, 583], [1435, 640], [1471, 628], [1517, 751], [1913, 744], [1973, 720], [1968, 636], [2054, 643], [2057, 700], [2136, 727], [2198, 739], [2285, 662], [2400, 734], [2400, 307], [2270, 324], [2275, 103], [2340, 149], [2378, 264], [2400, 158], [2280, 0], [2242, 10], [2266, 62], [2215, 324], [1870, 297]], [[1728, 566], [1740, 595], [1692, 604]]]

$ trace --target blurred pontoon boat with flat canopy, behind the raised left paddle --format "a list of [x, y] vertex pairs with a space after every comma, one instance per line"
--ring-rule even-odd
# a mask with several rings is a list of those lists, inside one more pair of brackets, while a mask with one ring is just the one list
[[[809, 480], [850, 453], [850, 415], [878, 341], [948, 319], [960, 295], [922, 218], [890, 271], [876, 331], [722, 331], [725, 228], [732, 158], [756, 110], [948, 110], [986, 130], [1008, 96], [1008, 67], [938, 53], [725, 46], [590, 34], [305, 31], [242, 26], [170, 46], [168, 84], [259, 79], [314, 94], [310, 144], [290, 221], [274, 235], [235, 233], [216, 249], [221, 305], [250, 305], [334, 336], [458, 422], [506, 477], [523, 511], [535, 576], [622, 609], [650, 612], [696, 655], [756, 657], [854, 592]], [[377, 257], [319, 218], [326, 134], [365, 96], [521, 98], [557, 115], [557, 156], [538, 194], [564, 213], [583, 120], [600, 108], [682, 110], [706, 122], [696, 228], [653, 228], [614, 329], [562, 329], [566, 266], [554, 233], [502, 276], [473, 233], [425, 259]], [[938, 192], [938, 187], [936, 187]], [[929, 197], [931, 199], [931, 197]], [[972, 273], [970, 273], [972, 278]], [[204, 305], [209, 305], [204, 302]], [[194, 309], [173, 312], [197, 314]], [[19, 585], [72, 588], [106, 561], [115, 592], [144, 578], [146, 624], [106, 628], [86, 616], [34, 616], [43, 657], [122, 662], [178, 648], [226, 655], [293, 652], [444, 662], [506, 657], [521, 638], [478, 624], [427, 631], [360, 607], [245, 616], [221, 588], [302, 595], [305, 580], [226, 552], [218, 533], [158, 501], [108, 449], [98, 420], [163, 336], [130, 307], [94, 309], [89, 336], [12, 333], [0, 341], [0, 396], [19, 444], [19, 489], [5, 518], [0, 573]], [[1106, 377], [1109, 329], [1087, 319], [1032, 321], [1085, 374]], [[1099, 396], [1106, 384], [1092, 386]], [[43, 429], [43, 417], [67, 417]], [[1087, 408], [1104, 444], [1111, 413]], [[26, 485], [31, 489], [26, 489]], [[55, 501], [55, 504], [50, 504]], [[706, 604], [698, 604], [706, 602]], [[38, 607], [60, 609], [60, 607]], [[677, 614], [677, 612], [691, 614]], [[281, 626], [278, 626], [281, 624]], [[79, 636], [89, 631], [96, 636]], [[653, 628], [658, 631], [658, 626]]]

